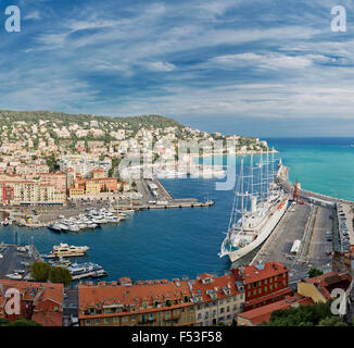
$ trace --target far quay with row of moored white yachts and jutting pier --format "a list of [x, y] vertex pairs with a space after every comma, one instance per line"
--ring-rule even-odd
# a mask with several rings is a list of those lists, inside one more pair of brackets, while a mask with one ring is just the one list
[[9, 222], [25, 227], [48, 227], [53, 232], [94, 229], [102, 224], [119, 224], [134, 212], [155, 209], [208, 208], [214, 201], [173, 198], [157, 178], [137, 179], [140, 200], [110, 196], [106, 200], [68, 201], [64, 207], [13, 207], [7, 209]]

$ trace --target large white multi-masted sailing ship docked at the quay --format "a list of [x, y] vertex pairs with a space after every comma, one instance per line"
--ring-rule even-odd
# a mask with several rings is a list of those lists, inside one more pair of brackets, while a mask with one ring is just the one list
[[[251, 156], [248, 175], [243, 173], [244, 163], [243, 158], [241, 159], [240, 175], [228, 231], [219, 252], [220, 258], [228, 256], [230, 261], [235, 262], [253, 251], [269, 237], [285, 214], [289, 198], [274, 181], [274, 153], [271, 156], [270, 175], [268, 152], [265, 162], [261, 153], [261, 161], [256, 166], [253, 166]], [[254, 189], [256, 186], [258, 189]]]

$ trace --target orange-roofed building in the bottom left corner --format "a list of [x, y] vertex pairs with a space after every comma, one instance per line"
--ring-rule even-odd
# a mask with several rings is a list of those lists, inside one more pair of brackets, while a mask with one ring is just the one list
[[[10, 288], [20, 291], [20, 314], [9, 314], [5, 310], [5, 294]], [[0, 318], [10, 321], [27, 319], [43, 326], [62, 326], [63, 294], [63, 284], [0, 279]]]

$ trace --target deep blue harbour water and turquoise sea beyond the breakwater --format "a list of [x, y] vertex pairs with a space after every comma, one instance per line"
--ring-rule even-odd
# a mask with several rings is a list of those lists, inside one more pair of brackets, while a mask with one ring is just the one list
[[[267, 139], [290, 167], [290, 181], [305, 189], [354, 200], [354, 138]], [[122, 276], [137, 279], [195, 277], [203, 272], [222, 273], [230, 268], [220, 259], [233, 199], [233, 190], [216, 190], [224, 179], [170, 178], [161, 181], [175, 198], [193, 197], [215, 201], [211, 208], [167, 209], [136, 212], [118, 225], [94, 231], [56, 234], [47, 228], [0, 227], [0, 241], [33, 241], [40, 253], [54, 245], [88, 246], [85, 258], [101, 264], [114, 281]]]

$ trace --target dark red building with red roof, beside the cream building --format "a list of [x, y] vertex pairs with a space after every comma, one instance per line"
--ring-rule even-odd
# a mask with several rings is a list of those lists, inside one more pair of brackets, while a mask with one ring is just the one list
[[244, 310], [254, 309], [290, 295], [289, 270], [277, 261], [244, 265], [232, 270], [244, 284]]

